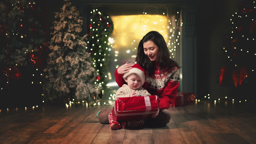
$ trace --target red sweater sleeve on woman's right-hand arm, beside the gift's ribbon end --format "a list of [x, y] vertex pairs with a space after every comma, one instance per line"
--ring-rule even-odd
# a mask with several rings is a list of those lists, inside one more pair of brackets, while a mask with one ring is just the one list
[[170, 76], [170, 79], [168, 80], [162, 94], [160, 97], [159, 107], [160, 110], [163, 109], [169, 109], [171, 99], [174, 99], [179, 87], [179, 70], [178, 68], [176, 70], [172, 71], [172, 75]]

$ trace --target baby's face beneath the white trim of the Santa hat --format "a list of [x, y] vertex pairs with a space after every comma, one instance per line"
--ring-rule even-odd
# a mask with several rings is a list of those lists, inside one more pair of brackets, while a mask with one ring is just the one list
[[129, 74], [125, 81], [131, 89], [137, 89], [143, 85], [141, 78], [135, 73]]

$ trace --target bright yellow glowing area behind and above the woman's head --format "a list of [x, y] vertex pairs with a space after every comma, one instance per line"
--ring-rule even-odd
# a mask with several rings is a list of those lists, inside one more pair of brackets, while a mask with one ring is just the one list
[[[114, 23], [114, 31], [112, 37], [115, 44], [118, 45], [116, 50], [131, 45], [132, 41], [139, 42], [142, 37], [150, 31], [162, 31], [161, 35], [167, 35], [169, 38], [168, 17], [166, 15], [125, 15], [125, 16], [111, 16]], [[162, 21], [160, 21], [160, 19]], [[145, 23], [148, 20], [147, 23]], [[157, 22], [154, 24], [154, 22]], [[163, 26], [165, 26], [163, 28]], [[145, 31], [146, 30], [146, 31]], [[168, 39], [165, 39], [166, 43]], [[137, 44], [136, 44], [137, 45]]]

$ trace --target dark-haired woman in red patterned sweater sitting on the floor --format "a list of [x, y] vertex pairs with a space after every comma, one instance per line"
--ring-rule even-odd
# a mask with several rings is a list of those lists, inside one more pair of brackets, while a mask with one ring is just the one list
[[[160, 98], [160, 112], [156, 118], [145, 120], [146, 126], [164, 126], [169, 123], [171, 114], [170, 103], [177, 93], [179, 86], [179, 66], [170, 58], [169, 50], [163, 36], [156, 31], [148, 32], [139, 42], [135, 60], [147, 72], [143, 88], [151, 95]], [[123, 73], [128, 72], [133, 64], [123, 64], [115, 70], [115, 78], [119, 87], [125, 84]], [[103, 109], [97, 116], [101, 123], [108, 123], [111, 108]]]

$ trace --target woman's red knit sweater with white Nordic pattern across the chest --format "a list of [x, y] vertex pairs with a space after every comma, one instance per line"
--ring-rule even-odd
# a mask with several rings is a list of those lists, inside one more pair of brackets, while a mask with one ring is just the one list
[[[123, 79], [123, 74], [117, 73], [117, 69], [115, 70], [114, 75], [118, 86], [121, 87], [123, 84], [126, 84], [126, 82]], [[165, 76], [163, 75], [163, 72], [165, 73]], [[169, 109], [179, 87], [178, 67], [173, 67], [171, 70], [160, 72], [159, 64], [156, 64], [154, 67], [154, 75], [147, 75], [142, 87], [148, 90], [151, 95], [159, 96], [160, 110]]]

